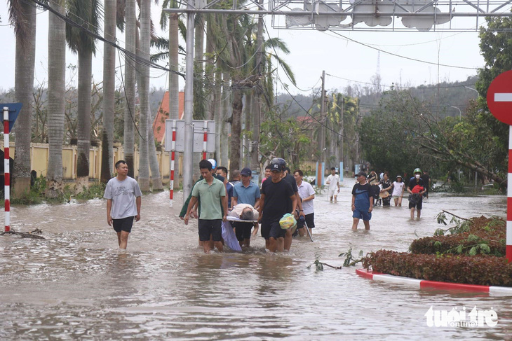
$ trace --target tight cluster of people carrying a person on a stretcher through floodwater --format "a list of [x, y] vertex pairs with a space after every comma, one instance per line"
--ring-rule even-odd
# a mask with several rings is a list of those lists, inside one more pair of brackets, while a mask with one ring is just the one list
[[[199, 169], [201, 178], [185, 201], [180, 218], [185, 224], [191, 217], [198, 218], [199, 244], [205, 252], [213, 246], [222, 251], [222, 222], [227, 221], [228, 216], [240, 220], [232, 222], [240, 246], [250, 246], [251, 235], [256, 235], [260, 229], [265, 246], [271, 252], [289, 251], [292, 246], [295, 229], [282, 228], [279, 223], [285, 214], [297, 218], [297, 233], [301, 236], [308, 232], [306, 228], [309, 233], [314, 228], [315, 191], [302, 181], [304, 174], [300, 169], [290, 174], [282, 158], [271, 160], [266, 169], [269, 177], [262, 182], [261, 189], [251, 181], [252, 172], [247, 167], [240, 172], [241, 181], [227, 181], [216, 172], [217, 162], [213, 159], [201, 160]], [[231, 187], [231, 194], [227, 187]], [[229, 202], [228, 197], [231, 197]]]

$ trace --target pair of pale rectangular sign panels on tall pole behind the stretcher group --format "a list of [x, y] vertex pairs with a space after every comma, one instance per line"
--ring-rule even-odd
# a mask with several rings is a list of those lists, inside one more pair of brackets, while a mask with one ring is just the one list
[[[176, 140], [175, 140], [175, 151], [184, 152], [184, 141], [185, 141], [185, 121], [176, 121]], [[204, 137], [206, 124], [207, 137], [206, 137], [206, 152], [215, 153], [215, 121], [214, 120], [193, 120], [192, 125], [194, 127], [194, 153], [201, 153], [204, 149]], [[171, 151], [171, 144], [173, 142], [173, 120], [166, 120], [166, 151]]]

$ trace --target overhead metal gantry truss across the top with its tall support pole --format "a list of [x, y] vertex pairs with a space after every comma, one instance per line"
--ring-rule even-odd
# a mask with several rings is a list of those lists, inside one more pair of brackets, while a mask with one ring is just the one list
[[[164, 13], [187, 14], [184, 143], [189, 153], [184, 153], [183, 158], [184, 200], [191, 192], [193, 174], [192, 89], [196, 13], [270, 15], [274, 29], [478, 32], [483, 18], [511, 17], [511, 4], [512, 0], [269, 0], [264, 4], [257, 0], [212, 0], [209, 3], [205, 0], [185, 0], [179, 8], [163, 8]], [[283, 15], [285, 20], [281, 20]], [[452, 23], [454, 18], [457, 18], [457, 25]], [[512, 31], [512, 27], [501, 31]]]

